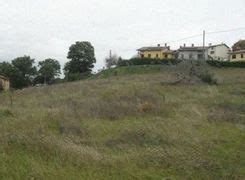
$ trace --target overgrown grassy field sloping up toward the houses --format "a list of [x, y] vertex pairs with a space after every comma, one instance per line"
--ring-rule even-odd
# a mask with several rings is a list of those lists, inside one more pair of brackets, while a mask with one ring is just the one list
[[0, 94], [0, 179], [245, 179], [245, 69], [188, 68]]

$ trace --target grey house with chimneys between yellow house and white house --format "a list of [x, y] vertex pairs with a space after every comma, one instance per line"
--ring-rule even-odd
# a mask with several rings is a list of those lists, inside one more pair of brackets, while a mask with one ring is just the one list
[[179, 60], [207, 60], [208, 59], [208, 48], [200, 46], [180, 46], [178, 49]]

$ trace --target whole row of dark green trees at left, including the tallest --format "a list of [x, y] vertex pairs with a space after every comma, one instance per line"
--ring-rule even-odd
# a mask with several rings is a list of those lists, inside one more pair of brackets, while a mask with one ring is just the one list
[[[66, 81], [74, 81], [91, 74], [96, 62], [94, 47], [90, 42], [76, 42], [68, 52], [69, 62], [65, 64], [64, 74]], [[35, 66], [35, 60], [30, 56], [13, 59], [11, 62], [0, 63], [0, 75], [10, 79], [12, 88], [20, 89], [35, 84], [54, 83], [61, 74], [59, 61], [45, 59]]]

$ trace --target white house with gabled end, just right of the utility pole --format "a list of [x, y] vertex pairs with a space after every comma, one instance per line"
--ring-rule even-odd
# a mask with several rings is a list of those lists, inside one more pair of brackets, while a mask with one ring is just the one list
[[209, 45], [208, 56], [211, 60], [228, 61], [230, 48], [226, 44]]

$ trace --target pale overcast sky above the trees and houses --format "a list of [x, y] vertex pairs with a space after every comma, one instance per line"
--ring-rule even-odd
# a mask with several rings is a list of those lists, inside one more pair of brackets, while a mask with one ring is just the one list
[[[96, 69], [113, 52], [123, 58], [141, 46], [201, 44], [207, 32], [245, 28], [245, 0], [0, 0], [0, 61], [30, 55], [63, 65], [69, 46], [90, 41]], [[212, 34], [207, 43], [231, 46], [245, 29]], [[173, 42], [174, 41], [174, 42]]]

